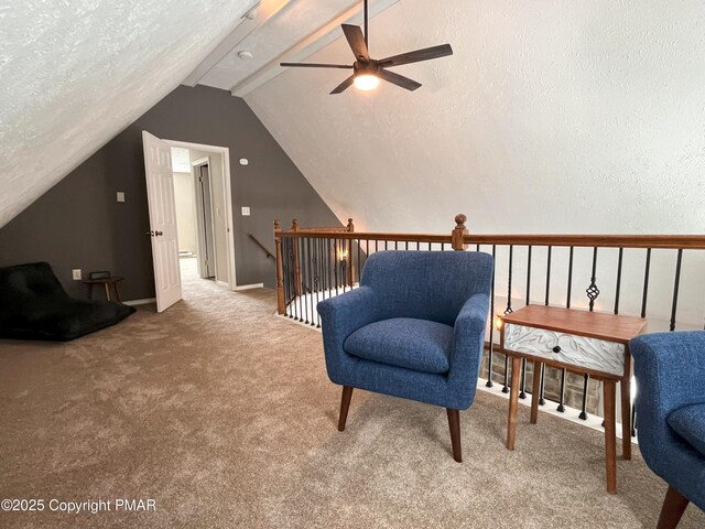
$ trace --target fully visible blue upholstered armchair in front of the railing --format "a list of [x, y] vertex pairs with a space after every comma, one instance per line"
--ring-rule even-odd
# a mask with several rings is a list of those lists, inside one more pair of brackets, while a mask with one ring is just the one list
[[460, 462], [460, 415], [475, 398], [492, 258], [476, 251], [380, 251], [360, 287], [318, 303], [328, 377], [343, 386], [447, 409]]

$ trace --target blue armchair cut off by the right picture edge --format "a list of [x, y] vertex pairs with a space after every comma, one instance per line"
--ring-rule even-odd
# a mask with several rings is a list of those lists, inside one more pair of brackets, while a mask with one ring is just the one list
[[705, 331], [655, 333], [630, 343], [639, 447], [669, 490], [659, 528], [692, 501], [705, 510]]

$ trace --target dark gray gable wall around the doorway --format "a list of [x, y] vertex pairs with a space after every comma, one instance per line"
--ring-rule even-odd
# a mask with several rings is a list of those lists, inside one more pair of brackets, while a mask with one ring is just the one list
[[[0, 228], [0, 266], [45, 260], [72, 295], [85, 296], [70, 270], [126, 277], [126, 300], [154, 296], [142, 130], [167, 140], [230, 149], [238, 284], [274, 284], [274, 264], [249, 239], [274, 251], [272, 222], [336, 226], [338, 219], [247, 104], [228, 91], [180, 86], [29, 208]], [[247, 158], [249, 165], [239, 164]], [[126, 202], [116, 202], [116, 192]], [[241, 206], [250, 217], [239, 215]]]

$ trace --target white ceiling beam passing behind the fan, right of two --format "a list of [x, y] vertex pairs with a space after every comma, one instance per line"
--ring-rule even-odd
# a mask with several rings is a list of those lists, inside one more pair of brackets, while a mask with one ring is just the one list
[[[387, 8], [393, 6], [399, 0], [377, 0], [377, 1], [370, 2], [371, 6], [369, 8], [369, 17], [371, 18], [381, 13]], [[358, 15], [360, 17], [360, 20], [357, 20]], [[263, 66], [258, 68], [256, 72], [247, 76], [240, 83], [232, 86], [232, 88], [230, 88], [230, 94], [232, 94], [234, 96], [242, 97], [249, 94], [250, 91], [252, 91], [254, 88], [263, 85], [264, 83], [272, 80], [274, 77], [276, 77], [278, 75], [286, 71], [286, 68], [280, 66], [279, 63], [282, 63], [282, 62], [296, 63], [305, 60], [306, 57], [310, 57], [317, 51], [330, 44], [336, 39], [343, 36], [343, 33], [339, 31], [340, 24], [346, 24], [346, 23], [361, 24], [362, 22], [361, 15], [362, 15], [362, 2], [357, 1], [355, 6], [350, 7], [349, 9], [346, 9], [345, 11], [339, 13], [337, 17], [335, 17], [334, 19], [329, 20], [324, 25], [318, 28], [312, 34], [299, 41], [296, 44], [291, 46], [284, 53], [278, 55], [276, 57], [271, 60], [269, 63], [264, 64]]]

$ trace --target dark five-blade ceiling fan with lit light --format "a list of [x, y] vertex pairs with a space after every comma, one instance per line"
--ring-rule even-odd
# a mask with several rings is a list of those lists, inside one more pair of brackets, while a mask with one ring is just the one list
[[383, 79], [408, 90], [415, 90], [421, 86], [409, 77], [388, 71], [394, 66], [402, 64], [417, 63], [421, 61], [430, 61], [432, 58], [453, 55], [451, 44], [442, 44], [440, 46], [425, 47], [414, 52], [406, 52], [391, 57], [375, 60], [370, 58], [368, 51], [368, 9], [367, 0], [365, 0], [365, 34], [359, 25], [341, 24], [343, 33], [352, 48], [355, 54], [355, 63], [347, 64], [315, 64], [315, 63], [280, 63], [281, 66], [304, 67], [304, 68], [352, 68], [352, 75], [340, 83], [332, 93], [340, 94], [350, 85], [355, 84], [360, 90], [372, 90], [379, 85], [379, 80]]

